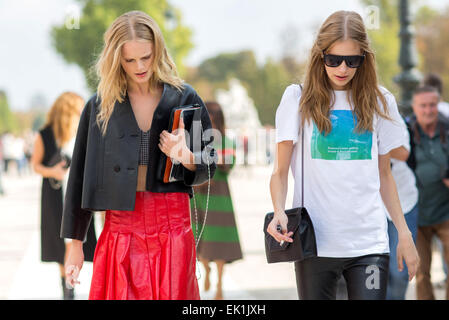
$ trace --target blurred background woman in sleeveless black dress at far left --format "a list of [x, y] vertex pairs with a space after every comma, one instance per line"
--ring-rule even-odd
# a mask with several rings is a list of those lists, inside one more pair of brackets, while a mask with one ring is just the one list
[[[53, 103], [47, 121], [36, 136], [31, 164], [42, 179], [41, 192], [41, 260], [57, 262], [65, 300], [74, 298], [74, 290], [65, 286], [64, 261], [70, 242], [59, 237], [62, 219], [64, 180], [84, 100], [73, 92], [61, 94]], [[62, 154], [67, 160], [63, 160]], [[94, 227], [89, 228], [84, 244], [86, 260], [93, 261], [97, 242]]]

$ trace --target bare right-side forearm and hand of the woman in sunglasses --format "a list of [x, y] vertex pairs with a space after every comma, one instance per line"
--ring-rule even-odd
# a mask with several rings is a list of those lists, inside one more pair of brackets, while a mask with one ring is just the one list
[[[380, 194], [382, 200], [390, 213], [396, 230], [398, 231], [397, 263], [399, 271], [402, 271], [403, 260], [408, 268], [409, 281], [413, 279], [419, 265], [419, 256], [413, 243], [412, 234], [407, 226], [404, 214], [399, 202], [396, 183], [390, 168], [390, 155], [379, 155], [379, 176], [380, 176]], [[395, 248], [390, 248], [394, 250]]]

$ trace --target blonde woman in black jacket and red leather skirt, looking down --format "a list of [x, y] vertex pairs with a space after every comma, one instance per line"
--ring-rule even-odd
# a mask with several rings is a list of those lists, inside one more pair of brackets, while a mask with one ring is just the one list
[[[91, 211], [105, 210], [89, 299], [199, 299], [189, 196], [213, 176], [214, 149], [204, 137], [194, 155], [184, 130], [166, 129], [174, 107], [198, 104], [207, 130], [207, 109], [177, 76], [158, 25], [143, 12], [125, 13], [107, 29], [97, 72], [64, 207], [61, 236], [73, 239], [67, 282], [77, 283]], [[182, 181], [157, 179], [161, 153], [183, 165]]]

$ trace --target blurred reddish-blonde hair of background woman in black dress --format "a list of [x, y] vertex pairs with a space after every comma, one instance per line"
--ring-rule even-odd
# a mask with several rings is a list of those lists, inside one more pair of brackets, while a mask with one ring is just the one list
[[75, 135], [83, 106], [84, 99], [74, 92], [64, 92], [56, 98], [44, 126], [52, 128], [58, 147], [64, 146]]

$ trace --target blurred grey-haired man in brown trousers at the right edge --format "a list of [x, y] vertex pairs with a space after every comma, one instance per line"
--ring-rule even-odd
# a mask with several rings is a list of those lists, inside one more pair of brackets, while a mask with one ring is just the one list
[[[417, 248], [421, 264], [416, 275], [419, 300], [435, 299], [430, 278], [434, 236], [440, 239], [445, 262], [449, 262], [449, 123], [438, 112], [439, 101], [436, 88], [420, 86], [413, 94], [414, 116], [409, 120], [413, 144], [408, 163], [415, 168], [419, 191]], [[449, 299], [447, 288], [446, 299]]]

